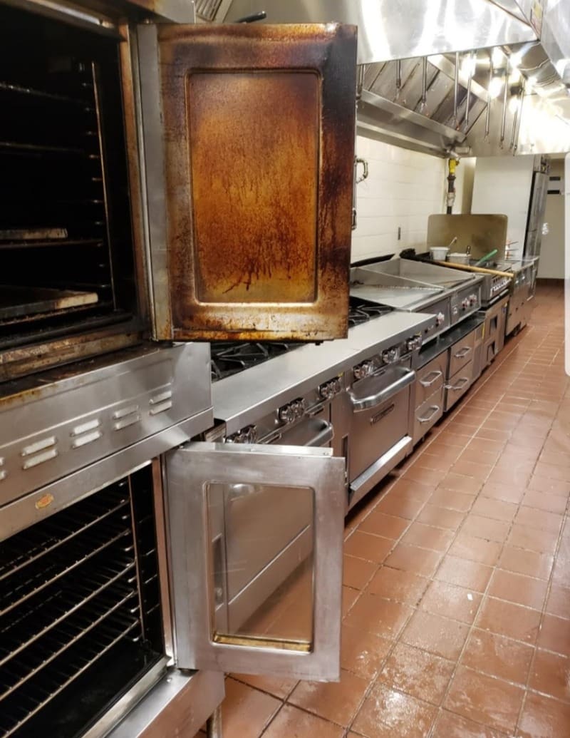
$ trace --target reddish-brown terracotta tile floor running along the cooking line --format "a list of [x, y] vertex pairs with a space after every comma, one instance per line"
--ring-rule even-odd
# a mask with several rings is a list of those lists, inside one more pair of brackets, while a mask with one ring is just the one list
[[563, 291], [347, 519], [338, 684], [232, 675], [225, 738], [570, 736]]

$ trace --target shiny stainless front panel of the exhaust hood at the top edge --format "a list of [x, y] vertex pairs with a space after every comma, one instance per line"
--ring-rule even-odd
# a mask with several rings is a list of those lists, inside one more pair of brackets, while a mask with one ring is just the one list
[[536, 38], [522, 13], [506, 13], [487, 0], [233, 0], [218, 20], [236, 21], [260, 10], [269, 23], [357, 25], [361, 64]]

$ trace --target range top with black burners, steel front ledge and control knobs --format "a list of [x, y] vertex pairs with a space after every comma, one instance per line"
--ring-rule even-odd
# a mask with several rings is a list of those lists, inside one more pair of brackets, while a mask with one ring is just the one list
[[[272, 344], [234, 345], [236, 363], [247, 364], [251, 357], [253, 364], [212, 382], [217, 426], [207, 440], [273, 438], [274, 432], [306, 420], [334, 401], [352, 384], [354, 370], [365, 372], [370, 362], [376, 370], [378, 362], [391, 362], [392, 354], [416, 353], [421, 336], [434, 323], [431, 315], [392, 311], [362, 300], [352, 305], [351, 315], [355, 325], [346, 339], [320, 345], [281, 344], [273, 347], [281, 352], [277, 356], [271, 356]], [[212, 360], [218, 364], [220, 349], [223, 354], [227, 348], [231, 347], [212, 345]], [[256, 426], [253, 434], [251, 426]], [[242, 433], [244, 429], [249, 430]]]

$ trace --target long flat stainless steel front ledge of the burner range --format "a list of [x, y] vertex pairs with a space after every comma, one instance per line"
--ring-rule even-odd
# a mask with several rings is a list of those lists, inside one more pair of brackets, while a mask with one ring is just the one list
[[212, 385], [215, 418], [232, 434], [433, 320], [423, 313], [390, 313], [350, 328], [346, 339], [303, 346], [221, 379]]

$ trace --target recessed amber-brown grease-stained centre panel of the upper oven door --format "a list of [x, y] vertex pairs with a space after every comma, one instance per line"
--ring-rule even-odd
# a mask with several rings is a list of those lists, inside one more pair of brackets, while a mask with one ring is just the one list
[[196, 297], [313, 301], [319, 77], [198, 72], [187, 94]]

